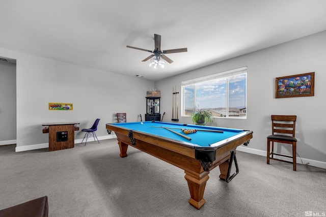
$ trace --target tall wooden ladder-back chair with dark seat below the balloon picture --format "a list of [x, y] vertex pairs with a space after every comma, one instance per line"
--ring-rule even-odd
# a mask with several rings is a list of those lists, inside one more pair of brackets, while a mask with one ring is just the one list
[[[295, 139], [295, 121], [296, 115], [271, 115], [272, 135], [267, 136], [267, 164], [269, 160], [282, 161], [293, 164], [293, 170], [296, 171], [296, 139]], [[271, 142], [271, 151], [270, 151]], [[292, 156], [274, 153], [274, 142], [292, 145]], [[292, 158], [291, 161], [276, 159], [274, 156]]]

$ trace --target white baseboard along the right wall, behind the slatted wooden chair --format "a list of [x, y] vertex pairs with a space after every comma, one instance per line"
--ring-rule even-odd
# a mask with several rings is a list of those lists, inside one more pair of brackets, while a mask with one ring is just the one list
[[[247, 152], [247, 153], [257, 154], [257, 155], [264, 156], [267, 158], [267, 151], [248, 148], [248, 147], [244, 147], [244, 146], [237, 147], [237, 150]], [[278, 157], [281, 160], [289, 160], [288, 158], [284, 158], [282, 156], [278, 156]], [[315, 161], [315, 160], [296, 157], [296, 163], [326, 169], [326, 162], [322, 162], [322, 161]]]

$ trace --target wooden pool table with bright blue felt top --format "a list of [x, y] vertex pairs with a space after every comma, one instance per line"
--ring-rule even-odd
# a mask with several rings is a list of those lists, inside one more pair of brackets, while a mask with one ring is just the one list
[[[183, 169], [191, 195], [189, 203], [197, 209], [205, 203], [203, 195], [209, 171], [219, 166], [220, 178], [229, 181], [233, 160], [236, 164], [236, 147], [247, 145], [253, 134], [248, 130], [161, 121], [107, 123], [106, 129], [115, 132], [121, 158], [127, 157], [130, 145]], [[181, 129], [197, 132], [184, 134]]]

